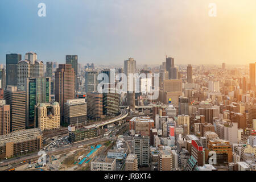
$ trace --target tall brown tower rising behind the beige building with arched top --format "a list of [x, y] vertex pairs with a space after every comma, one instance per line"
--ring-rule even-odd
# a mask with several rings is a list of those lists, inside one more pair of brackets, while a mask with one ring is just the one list
[[64, 104], [75, 98], [75, 71], [71, 64], [59, 64], [55, 72], [55, 101], [60, 104], [63, 121]]

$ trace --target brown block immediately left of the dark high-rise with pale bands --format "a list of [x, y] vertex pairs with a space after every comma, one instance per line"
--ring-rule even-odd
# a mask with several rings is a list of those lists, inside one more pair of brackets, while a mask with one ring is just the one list
[[91, 119], [100, 119], [103, 114], [103, 95], [97, 92], [87, 94], [87, 116]]

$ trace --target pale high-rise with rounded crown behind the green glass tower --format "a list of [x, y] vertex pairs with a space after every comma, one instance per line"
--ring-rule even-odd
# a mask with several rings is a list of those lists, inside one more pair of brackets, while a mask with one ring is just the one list
[[25, 55], [25, 60], [18, 63], [18, 89], [25, 90], [27, 78], [44, 77], [43, 61], [37, 60], [37, 55], [34, 52], [28, 52]]

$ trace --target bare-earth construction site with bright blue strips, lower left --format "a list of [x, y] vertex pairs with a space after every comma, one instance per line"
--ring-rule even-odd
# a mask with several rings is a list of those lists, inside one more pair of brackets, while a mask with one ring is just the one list
[[[100, 155], [106, 155], [114, 142], [99, 142], [89, 146], [81, 146], [76, 150], [56, 155], [46, 155], [46, 163], [39, 164], [38, 160], [23, 161], [15, 166], [0, 167], [0, 170], [15, 171], [87, 171], [90, 162]], [[42, 160], [43, 161], [43, 160]]]

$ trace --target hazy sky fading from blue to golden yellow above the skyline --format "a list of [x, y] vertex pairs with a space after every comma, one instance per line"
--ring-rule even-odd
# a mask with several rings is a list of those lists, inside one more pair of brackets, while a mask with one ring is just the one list
[[[46, 3], [46, 17], [38, 4]], [[209, 3], [217, 16], [210, 17]], [[1, 0], [0, 63], [6, 53], [43, 61], [248, 64], [256, 61], [255, 0]]]

